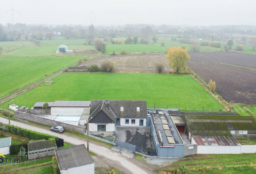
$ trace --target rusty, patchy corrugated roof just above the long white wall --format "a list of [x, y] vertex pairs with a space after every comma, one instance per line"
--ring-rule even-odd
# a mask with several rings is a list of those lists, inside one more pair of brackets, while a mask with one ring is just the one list
[[241, 145], [233, 136], [193, 136], [198, 145]]

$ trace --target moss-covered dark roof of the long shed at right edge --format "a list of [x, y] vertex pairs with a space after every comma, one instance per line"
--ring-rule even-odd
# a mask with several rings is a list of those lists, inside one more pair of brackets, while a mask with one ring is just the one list
[[186, 116], [193, 136], [231, 136], [230, 130], [256, 130], [254, 116]]

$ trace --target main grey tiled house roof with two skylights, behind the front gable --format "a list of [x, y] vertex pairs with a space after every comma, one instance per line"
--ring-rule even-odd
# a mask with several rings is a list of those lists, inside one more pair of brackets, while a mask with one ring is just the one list
[[[103, 100], [91, 100], [90, 114], [100, 105]], [[109, 107], [117, 118], [146, 118], [147, 103], [146, 100], [105, 100], [109, 102]], [[124, 107], [124, 111], [120, 110]], [[139, 111], [137, 111], [139, 107]]]

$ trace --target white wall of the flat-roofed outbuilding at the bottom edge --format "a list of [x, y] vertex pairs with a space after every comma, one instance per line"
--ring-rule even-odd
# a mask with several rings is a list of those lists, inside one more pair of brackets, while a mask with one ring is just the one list
[[94, 174], [94, 163], [84, 166], [74, 167], [67, 170], [61, 170], [61, 174]]

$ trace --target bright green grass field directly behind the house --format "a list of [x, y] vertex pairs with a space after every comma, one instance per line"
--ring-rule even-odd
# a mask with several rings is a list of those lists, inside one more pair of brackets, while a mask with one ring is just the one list
[[[14, 98], [15, 104], [33, 107], [55, 100], [147, 100], [152, 108], [219, 110], [224, 107], [190, 75], [62, 73], [53, 83], [38, 86]], [[7, 102], [0, 105], [7, 108]]]

